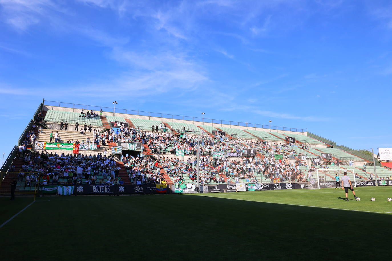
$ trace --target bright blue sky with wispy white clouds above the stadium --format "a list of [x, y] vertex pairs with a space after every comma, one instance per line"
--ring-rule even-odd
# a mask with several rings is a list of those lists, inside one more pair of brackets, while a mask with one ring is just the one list
[[0, 0], [8, 155], [44, 98], [392, 146], [392, 3]]

